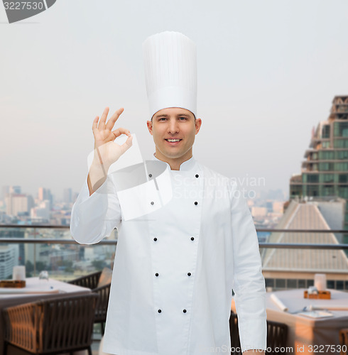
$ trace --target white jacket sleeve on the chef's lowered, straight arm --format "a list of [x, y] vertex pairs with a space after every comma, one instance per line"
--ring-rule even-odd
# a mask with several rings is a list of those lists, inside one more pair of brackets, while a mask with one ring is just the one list
[[241, 351], [266, 350], [266, 288], [259, 241], [251, 212], [235, 181], [232, 181], [231, 193], [233, 290]]

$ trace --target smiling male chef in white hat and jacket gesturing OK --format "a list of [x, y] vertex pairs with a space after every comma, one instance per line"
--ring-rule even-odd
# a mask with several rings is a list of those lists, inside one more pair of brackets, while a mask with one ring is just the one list
[[[251, 213], [234, 180], [192, 155], [202, 124], [195, 44], [166, 31], [146, 39], [143, 55], [153, 161], [110, 173], [132, 136], [114, 129], [123, 109], [109, 120], [105, 109], [93, 122], [94, 159], [72, 209], [81, 244], [119, 231], [103, 351], [229, 354], [233, 289], [241, 351], [264, 354], [266, 290]], [[115, 143], [121, 134], [126, 142]]]

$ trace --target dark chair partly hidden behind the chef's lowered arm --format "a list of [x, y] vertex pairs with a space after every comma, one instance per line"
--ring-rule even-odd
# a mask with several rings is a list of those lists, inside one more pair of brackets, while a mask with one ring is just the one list
[[[241, 343], [239, 341], [238, 317], [234, 312], [231, 312], [231, 317], [229, 317], [229, 332], [231, 334], [232, 350], [235, 350], [236, 348], [240, 349]], [[276, 346], [285, 347], [287, 339], [288, 326], [286, 324], [267, 320], [267, 348], [271, 348], [271, 351], [266, 351], [265, 354], [278, 354], [274, 349]], [[231, 351], [231, 354], [240, 355], [241, 351]]]

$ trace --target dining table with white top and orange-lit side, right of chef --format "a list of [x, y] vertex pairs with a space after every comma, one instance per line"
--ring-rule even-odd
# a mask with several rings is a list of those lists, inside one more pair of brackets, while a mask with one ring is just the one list
[[[266, 293], [267, 320], [288, 326], [281, 354], [340, 354], [339, 330], [348, 328], [348, 293], [328, 289], [330, 299], [304, 297], [304, 288]], [[236, 312], [234, 297], [231, 309]]]

